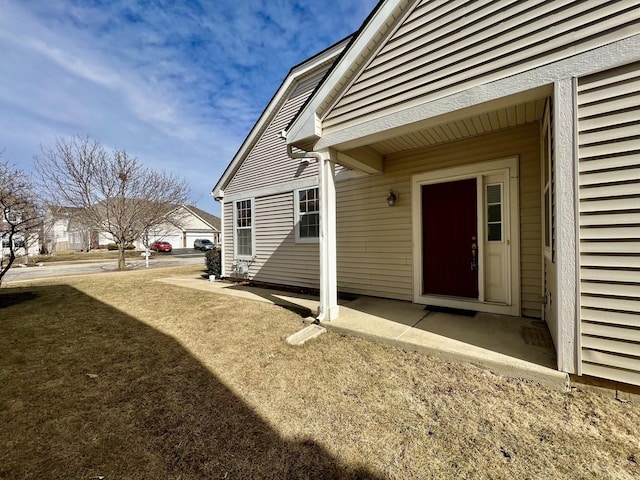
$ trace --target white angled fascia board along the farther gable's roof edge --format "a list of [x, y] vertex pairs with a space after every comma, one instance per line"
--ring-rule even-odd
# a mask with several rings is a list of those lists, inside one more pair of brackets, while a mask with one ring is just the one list
[[227, 187], [229, 181], [233, 178], [238, 168], [247, 157], [255, 143], [260, 139], [273, 117], [278, 113], [282, 104], [286, 101], [289, 93], [295, 88], [296, 83], [300, 77], [306, 76], [310, 72], [322, 67], [327, 62], [334, 60], [347, 45], [349, 39], [345, 39], [340, 43], [328, 48], [324, 52], [312, 57], [307, 62], [304, 62], [296, 67], [293, 67], [287, 77], [284, 79], [280, 88], [278, 88], [276, 94], [273, 96], [267, 108], [262, 112], [260, 118], [251, 129], [251, 132], [240, 146], [240, 149], [235, 154], [224, 173], [213, 187], [211, 196], [214, 199], [221, 198], [223, 196], [223, 190]]

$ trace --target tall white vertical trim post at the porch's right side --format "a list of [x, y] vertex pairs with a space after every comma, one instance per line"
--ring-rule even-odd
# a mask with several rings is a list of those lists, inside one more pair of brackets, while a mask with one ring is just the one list
[[575, 80], [554, 85], [556, 306], [558, 312], [558, 369], [576, 373], [580, 368], [578, 319], [578, 248], [576, 184]]

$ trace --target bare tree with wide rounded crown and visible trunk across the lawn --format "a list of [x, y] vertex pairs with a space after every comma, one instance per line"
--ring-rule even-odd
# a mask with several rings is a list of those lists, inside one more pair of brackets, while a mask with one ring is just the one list
[[127, 246], [187, 201], [183, 179], [153, 171], [124, 150], [109, 153], [89, 137], [59, 138], [35, 160], [49, 201], [75, 208], [78, 222], [113, 238], [119, 270], [125, 268]]

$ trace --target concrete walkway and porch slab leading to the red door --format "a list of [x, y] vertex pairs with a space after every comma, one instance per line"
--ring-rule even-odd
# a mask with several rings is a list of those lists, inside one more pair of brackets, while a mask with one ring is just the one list
[[[201, 278], [170, 277], [160, 282], [268, 302], [303, 316], [315, 314], [317, 297]], [[361, 296], [340, 302], [340, 317], [323, 322], [335, 332], [421, 351], [448, 361], [469, 362], [496, 373], [566, 390], [569, 376], [555, 369], [553, 343], [544, 323], [477, 313], [463, 316], [428, 311], [424, 305]]]

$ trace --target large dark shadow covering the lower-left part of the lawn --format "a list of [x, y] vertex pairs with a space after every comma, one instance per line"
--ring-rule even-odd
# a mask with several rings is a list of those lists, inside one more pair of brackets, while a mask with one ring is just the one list
[[376, 478], [283, 438], [175, 339], [29, 290], [0, 310], [0, 478]]

